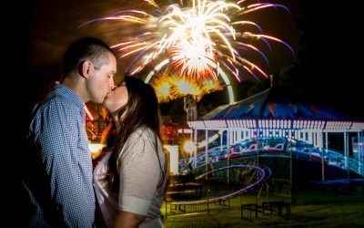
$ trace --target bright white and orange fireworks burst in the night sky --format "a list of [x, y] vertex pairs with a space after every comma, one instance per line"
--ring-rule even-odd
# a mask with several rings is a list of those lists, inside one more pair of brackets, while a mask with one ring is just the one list
[[[217, 81], [219, 68], [238, 80], [250, 75], [254, 78], [268, 74], [247, 52], [268, 58], [258, 48], [270, 42], [278, 42], [293, 49], [284, 41], [262, 34], [258, 24], [245, 20], [246, 15], [268, 7], [283, 8], [284, 5], [270, 3], [247, 4], [214, 0], [178, 1], [176, 4], [158, 5], [145, 0], [147, 10], [128, 9], [103, 18], [86, 22], [112, 20], [121, 23], [121, 28], [132, 25], [136, 36], [120, 37], [113, 46], [120, 58], [133, 57], [126, 73], [134, 74], [152, 61], [169, 59], [177, 77], [201, 83], [206, 78]], [[147, 7], [146, 7], [147, 6]]]

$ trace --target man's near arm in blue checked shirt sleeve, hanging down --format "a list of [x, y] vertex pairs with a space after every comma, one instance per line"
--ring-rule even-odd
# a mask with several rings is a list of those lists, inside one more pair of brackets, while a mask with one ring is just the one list
[[84, 178], [85, 161], [81, 154], [85, 151], [78, 148], [76, 114], [62, 104], [50, 104], [40, 113], [38, 126], [42, 129], [38, 137], [56, 211], [67, 226], [92, 227], [94, 212], [86, 196], [88, 182]]

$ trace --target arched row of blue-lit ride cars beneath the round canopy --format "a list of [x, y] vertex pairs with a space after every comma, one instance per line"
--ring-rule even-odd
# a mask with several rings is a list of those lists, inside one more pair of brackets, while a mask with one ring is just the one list
[[[217, 139], [218, 140], [218, 139]], [[258, 152], [257, 152], [258, 148]], [[359, 159], [346, 157], [339, 150], [319, 150], [314, 145], [302, 140], [289, 140], [285, 137], [262, 137], [258, 140], [242, 140], [229, 148], [227, 146], [217, 146], [208, 150], [208, 162], [234, 159], [244, 156], [292, 156], [293, 159], [308, 161], [319, 161], [324, 159], [325, 164], [339, 167], [342, 170], [349, 170], [359, 173]], [[194, 158], [192, 158], [193, 160]], [[206, 163], [206, 153], [204, 151], [197, 154], [197, 167], [204, 166]], [[180, 169], [184, 169], [184, 164], [180, 163]]]

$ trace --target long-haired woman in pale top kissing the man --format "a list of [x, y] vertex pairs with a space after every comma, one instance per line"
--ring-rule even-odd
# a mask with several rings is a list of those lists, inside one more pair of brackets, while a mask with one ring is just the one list
[[162, 227], [160, 208], [167, 186], [154, 89], [127, 76], [104, 107], [114, 120], [113, 150], [94, 171], [97, 201], [108, 227]]

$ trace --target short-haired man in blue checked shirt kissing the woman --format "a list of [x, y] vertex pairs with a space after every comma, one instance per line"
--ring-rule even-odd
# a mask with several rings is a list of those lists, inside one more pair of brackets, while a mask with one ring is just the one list
[[95, 195], [85, 103], [114, 88], [116, 56], [86, 37], [66, 50], [64, 77], [33, 109], [22, 183], [30, 227], [93, 227]]

